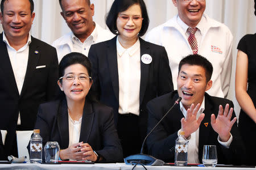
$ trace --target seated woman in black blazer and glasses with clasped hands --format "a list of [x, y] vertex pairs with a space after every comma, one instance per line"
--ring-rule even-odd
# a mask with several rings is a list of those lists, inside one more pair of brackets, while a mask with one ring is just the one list
[[59, 64], [62, 100], [41, 104], [35, 129], [43, 146], [57, 141], [62, 160], [122, 162], [122, 147], [114, 126], [113, 109], [93, 100], [90, 94], [92, 68], [81, 53], [69, 53]]

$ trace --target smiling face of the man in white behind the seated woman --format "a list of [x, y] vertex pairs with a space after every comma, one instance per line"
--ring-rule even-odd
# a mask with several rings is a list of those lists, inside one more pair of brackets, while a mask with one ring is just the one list
[[65, 19], [68, 27], [74, 35], [84, 41], [95, 27], [93, 23], [94, 5], [86, 0], [62, 0], [61, 16]]

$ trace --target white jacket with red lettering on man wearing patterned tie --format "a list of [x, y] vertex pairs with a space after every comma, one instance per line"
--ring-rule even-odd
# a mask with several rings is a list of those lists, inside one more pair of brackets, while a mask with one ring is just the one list
[[[188, 42], [189, 33], [187, 27], [183, 28], [182, 21], [178, 23], [179, 16], [176, 15], [166, 23], [159, 25], [149, 31], [145, 37], [146, 41], [162, 45], [166, 48], [174, 90], [177, 90], [177, 75], [179, 63], [184, 56], [192, 54]], [[226, 25], [209, 18], [203, 14], [202, 19], [196, 26], [196, 39], [198, 54], [207, 58], [213, 65], [213, 86], [208, 94], [217, 97], [228, 95], [232, 71], [232, 40], [233, 36]]]

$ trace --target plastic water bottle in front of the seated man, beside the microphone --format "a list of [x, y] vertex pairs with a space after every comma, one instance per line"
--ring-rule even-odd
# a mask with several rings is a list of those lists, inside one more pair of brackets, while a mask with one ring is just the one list
[[188, 141], [184, 135], [184, 131], [179, 131], [179, 136], [175, 141], [175, 166], [187, 166], [188, 164]]

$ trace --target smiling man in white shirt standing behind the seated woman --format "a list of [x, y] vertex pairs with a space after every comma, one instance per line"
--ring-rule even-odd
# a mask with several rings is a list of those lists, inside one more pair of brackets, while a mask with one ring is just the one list
[[90, 46], [114, 37], [113, 33], [93, 22], [94, 5], [90, 0], [59, 0], [65, 22], [71, 32], [52, 44], [57, 49], [59, 62], [65, 54], [79, 52], [88, 56]]

